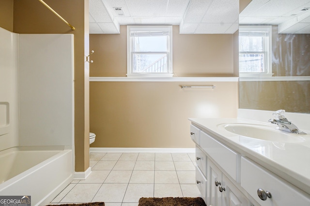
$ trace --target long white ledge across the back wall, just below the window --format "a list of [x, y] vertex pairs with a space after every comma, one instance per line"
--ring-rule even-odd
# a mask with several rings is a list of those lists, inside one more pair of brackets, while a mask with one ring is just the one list
[[171, 78], [129, 78], [129, 77], [90, 77], [89, 81], [238, 81], [238, 77], [171, 77]]

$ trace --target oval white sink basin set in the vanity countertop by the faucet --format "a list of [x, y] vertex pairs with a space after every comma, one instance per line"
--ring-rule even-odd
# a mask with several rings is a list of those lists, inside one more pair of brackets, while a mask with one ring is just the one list
[[258, 127], [250, 124], [224, 124], [225, 130], [237, 135], [250, 137], [259, 140], [282, 142], [282, 143], [300, 143], [305, 139], [297, 134], [286, 133], [273, 128]]

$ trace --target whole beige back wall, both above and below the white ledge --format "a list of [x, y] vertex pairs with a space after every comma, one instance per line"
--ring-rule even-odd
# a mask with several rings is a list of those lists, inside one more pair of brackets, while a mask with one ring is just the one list
[[[233, 77], [235, 41], [234, 34], [179, 34], [173, 26], [174, 73]], [[91, 77], [126, 77], [126, 26], [120, 34], [91, 34], [90, 49]], [[216, 88], [180, 87], [210, 84]], [[237, 107], [238, 82], [91, 82], [91, 147], [194, 147], [188, 118], [235, 117]]]

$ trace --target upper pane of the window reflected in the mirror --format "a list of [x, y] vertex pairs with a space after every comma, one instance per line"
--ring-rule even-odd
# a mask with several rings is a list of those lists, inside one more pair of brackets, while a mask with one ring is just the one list
[[239, 36], [239, 51], [263, 51], [263, 36]]

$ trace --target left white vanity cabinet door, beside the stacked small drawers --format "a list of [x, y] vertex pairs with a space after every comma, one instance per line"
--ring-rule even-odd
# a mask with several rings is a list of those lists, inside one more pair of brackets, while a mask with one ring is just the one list
[[207, 159], [207, 162], [207, 205], [221, 206], [222, 195], [221, 192], [218, 190], [218, 186], [222, 182], [222, 172], [209, 158]]

